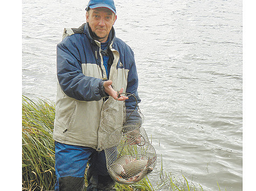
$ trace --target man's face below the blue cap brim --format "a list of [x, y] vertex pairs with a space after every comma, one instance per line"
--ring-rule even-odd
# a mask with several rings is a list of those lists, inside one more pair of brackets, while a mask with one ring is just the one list
[[117, 16], [107, 8], [90, 9], [86, 12], [86, 21], [96, 36], [95, 40], [106, 42], [108, 34]]

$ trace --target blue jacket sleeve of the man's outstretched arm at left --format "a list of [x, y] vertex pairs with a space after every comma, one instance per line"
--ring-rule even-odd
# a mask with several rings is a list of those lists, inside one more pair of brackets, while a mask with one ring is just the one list
[[82, 74], [78, 58], [78, 47], [70, 38], [65, 38], [57, 45], [57, 78], [60, 87], [68, 97], [81, 101], [98, 101], [102, 98], [102, 79]]

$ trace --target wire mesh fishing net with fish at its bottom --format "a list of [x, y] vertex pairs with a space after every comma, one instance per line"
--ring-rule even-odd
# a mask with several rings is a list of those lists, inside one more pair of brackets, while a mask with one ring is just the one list
[[104, 139], [107, 168], [116, 182], [140, 181], [156, 165], [156, 152], [142, 127], [143, 122], [139, 106], [123, 111], [109, 107], [103, 111], [100, 128], [107, 132]]

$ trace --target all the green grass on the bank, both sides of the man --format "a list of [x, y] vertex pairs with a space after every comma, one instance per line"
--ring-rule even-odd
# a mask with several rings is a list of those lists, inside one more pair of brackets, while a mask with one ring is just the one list
[[[22, 101], [22, 185], [23, 190], [54, 190], [54, 141], [52, 138], [55, 104], [49, 100], [36, 102], [24, 97]], [[161, 157], [162, 159], [162, 157]], [[161, 164], [162, 161], [161, 161]], [[85, 174], [86, 176], [86, 174]], [[87, 181], [85, 180], [87, 186]], [[160, 170], [156, 185], [148, 177], [134, 185], [116, 183], [116, 190], [203, 190], [185, 177], [176, 180], [171, 174]], [[220, 189], [219, 189], [220, 190]]]

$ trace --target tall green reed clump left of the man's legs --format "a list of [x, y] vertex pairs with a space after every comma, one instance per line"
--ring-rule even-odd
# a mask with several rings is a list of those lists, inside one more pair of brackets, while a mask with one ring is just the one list
[[23, 97], [22, 104], [22, 184], [23, 190], [54, 190], [55, 106]]

